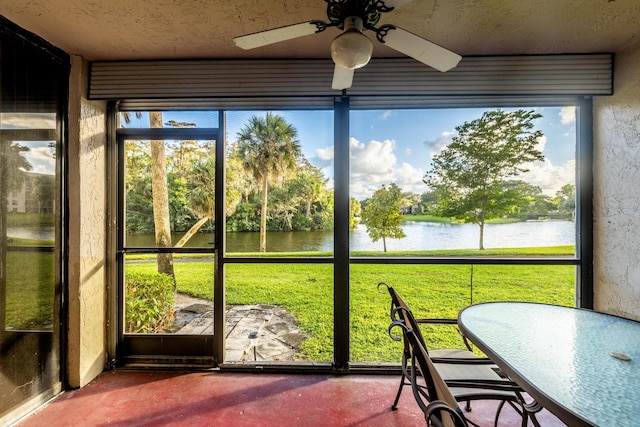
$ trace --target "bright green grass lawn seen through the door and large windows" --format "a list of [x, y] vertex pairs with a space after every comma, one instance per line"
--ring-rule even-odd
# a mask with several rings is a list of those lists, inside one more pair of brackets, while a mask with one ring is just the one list
[[[492, 255], [570, 255], [573, 247], [505, 249]], [[415, 255], [415, 252], [411, 253]], [[485, 251], [483, 255], [491, 255]], [[289, 254], [292, 255], [292, 254]], [[299, 255], [299, 254], [298, 254]], [[394, 253], [395, 255], [395, 253]], [[407, 254], [408, 255], [408, 254]], [[430, 255], [453, 255], [439, 251]], [[457, 256], [477, 251], [455, 251]], [[128, 270], [153, 271], [155, 264], [128, 264]], [[178, 290], [212, 299], [212, 262], [176, 262]], [[397, 362], [401, 344], [387, 334], [390, 299], [377, 284], [396, 288], [418, 317], [456, 318], [478, 302], [536, 301], [572, 306], [575, 267], [521, 265], [371, 265], [350, 267], [351, 360]], [[306, 360], [333, 360], [333, 266], [327, 264], [227, 264], [227, 304], [275, 304], [285, 307], [310, 336], [303, 345]], [[460, 347], [451, 326], [425, 329], [431, 348]]]

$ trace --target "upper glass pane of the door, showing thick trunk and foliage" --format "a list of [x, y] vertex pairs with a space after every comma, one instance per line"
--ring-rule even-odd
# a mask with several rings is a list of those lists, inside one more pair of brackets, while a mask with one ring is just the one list
[[[164, 178], [157, 188], [154, 156], [165, 165], [157, 174]], [[215, 141], [130, 139], [125, 163], [125, 246], [213, 249]], [[154, 191], [156, 196], [166, 191], [155, 208]], [[158, 234], [156, 224], [165, 224], [170, 236]]]

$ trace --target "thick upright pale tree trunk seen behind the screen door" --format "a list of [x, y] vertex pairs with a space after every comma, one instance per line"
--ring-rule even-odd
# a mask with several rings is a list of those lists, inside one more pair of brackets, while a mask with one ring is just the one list
[[[150, 112], [152, 128], [162, 127], [162, 113]], [[169, 216], [169, 188], [167, 183], [167, 159], [163, 140], [151, 141], [151, 192], [153, 197], [153, 222], [156, 246], [171, 247], [171, 221]], [[173, 274], [172, 254], [158, 254], [158, 273]]]

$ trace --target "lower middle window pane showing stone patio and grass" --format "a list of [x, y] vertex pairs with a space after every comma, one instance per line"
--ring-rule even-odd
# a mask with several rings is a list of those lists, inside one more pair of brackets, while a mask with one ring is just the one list
[[227, 264], [227, 362], [333, 360], [333, 267]]

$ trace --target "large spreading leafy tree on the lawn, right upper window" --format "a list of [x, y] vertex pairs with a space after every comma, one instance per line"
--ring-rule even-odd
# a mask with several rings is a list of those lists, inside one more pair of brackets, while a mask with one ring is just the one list
[[433, 157], [424, 182], [436, 193], [435, 211], [478, 224], [480, 250], [485, 222], [519, 205], [507, 181], [544, 159], [537, 148], [543, 135], [533, 123], [540, 117], [534, 111], [487, 111], [456, 127], [453, 141]]

